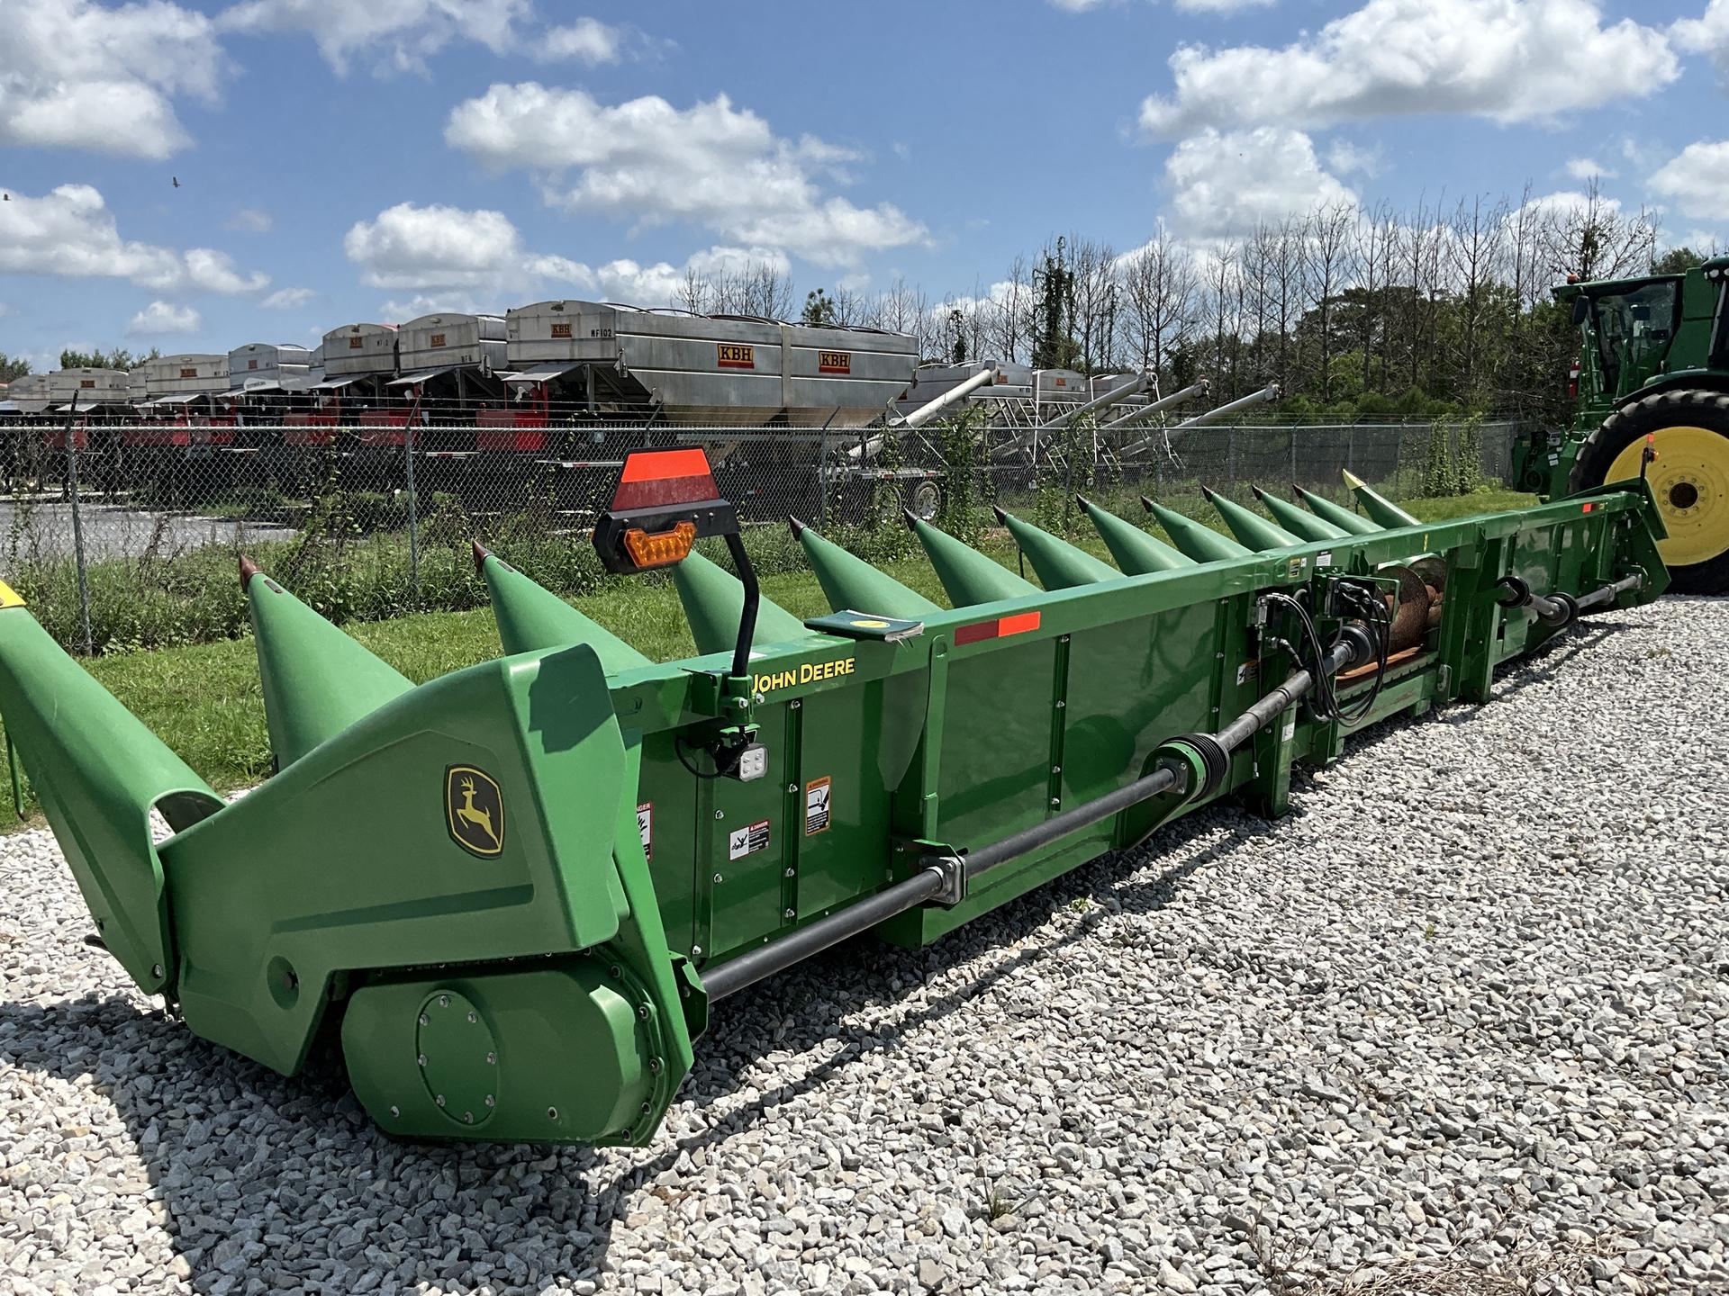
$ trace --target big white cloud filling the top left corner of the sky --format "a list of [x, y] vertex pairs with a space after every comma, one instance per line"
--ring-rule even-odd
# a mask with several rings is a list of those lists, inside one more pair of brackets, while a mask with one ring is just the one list
[[0, 24], [0, 145], [168, 157], [175, 97], [216, 98], [211, 21], [166, 0], [7, 0]]

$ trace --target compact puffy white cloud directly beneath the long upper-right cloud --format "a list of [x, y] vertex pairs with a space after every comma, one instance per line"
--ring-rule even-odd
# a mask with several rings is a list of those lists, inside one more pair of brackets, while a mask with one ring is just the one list
[[1165, 159], [1165, 180], [1171, 225], [1188, 238], [1231, 238], [1292, 213], [1357, 202], [1321, 168], [1307, 135], [1279, 126], [1183, 140]]

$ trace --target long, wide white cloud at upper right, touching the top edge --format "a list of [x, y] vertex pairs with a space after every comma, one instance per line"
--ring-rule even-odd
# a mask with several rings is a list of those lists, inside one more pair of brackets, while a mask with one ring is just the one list
[[1420, 112], [1546, 121], [1681, 74], [1662, 31], [1605, 26], [1596, 0], [1366, 0], [1283, 48], [1184, 45], [1171, 71], [1174, 93], [1141, 104], [1153, 135]]

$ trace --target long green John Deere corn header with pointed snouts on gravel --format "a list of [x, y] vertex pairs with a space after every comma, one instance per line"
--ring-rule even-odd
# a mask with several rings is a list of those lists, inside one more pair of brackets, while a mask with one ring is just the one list
[[1357, 496], [1215, 498], [1235, 539], [1146, 501], [1169, 544], [1082, 499], [1115, 567], [1005, 513], [1043, 588], [911, 520], [953, 608], [794, 522], [833, 608], [801, 622], [702, 453], [638, 453], [595, 544], [671, 569], [700, 657], [477, 550], [505, 655], [412, 686], [242, 565], [277, 755], [249, 795], [16, 596], [0, 708], [93, 938], [197, 1035], [285, 1073], [334, 1035], [396, 1135], [641, 1144], [716, 1001], [847, 937], [930, 943], [1217, 798], [1278, 814], [1293, 760], [1485, 702], [1668, 579], [1639, 477], [1440, 525]]

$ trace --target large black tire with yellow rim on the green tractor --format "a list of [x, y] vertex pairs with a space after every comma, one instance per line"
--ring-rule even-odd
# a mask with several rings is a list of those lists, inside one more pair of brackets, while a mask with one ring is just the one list
[[1668, 527], [1658, 544], [1670, 588], [1729, 593], [1729, 394], [1672, 391], [1646, 396], [1603, 420], [1573, 461], [1572, 491], [1639, 475], [1644, 439], [1656, 461], [1646, 479]]

